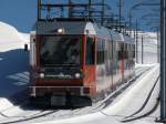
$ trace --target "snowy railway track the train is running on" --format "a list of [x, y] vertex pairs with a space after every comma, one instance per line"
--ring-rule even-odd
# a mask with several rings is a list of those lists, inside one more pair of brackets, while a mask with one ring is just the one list
[[129, 85], [132, 85], [137, 79], [139, 79], [143, 74], [148, 72], [152, 68], [136, 69], [137, 74], [131, 81], [128, 81], [127, 83], [124, 83], [115, 92], [113, 92], [111, 95], [108, 95], [105, 100], [100, 101], [100, 102], [93, 104], [92, 106], [76, 108], [76, 110], [68, 110], [69, 112], [66, 112], [66, 110], [51, 110], [51, 111], [43, 110], [43, 111], [32, 114], [30, 116], [8, 116], [1, 112], [0, 115], [2, 115], [7, 120], [12, 118], [12, 121], [6, 120], [0, 124], [21, 123], [21, 122], [27, 122], [27, 121], [39, 120], [39, 118], [45, 117], [45, 116], [51, 116], [51, 115], [54, 116], [55, 114], [59, 115], [60, 111], [62, 113], [64, 111], [65, 114], [63, 116], [66, 116], [66, 117], [71, 116], [71, 115], [72, 116], [82, 115], [82, 114], [94, 113], [94, 112], [101, 111], [102, 108], [105, 108], [108, 104], [111, 104], [116, 96], [118, 96], [125, 89], [127, 89]]

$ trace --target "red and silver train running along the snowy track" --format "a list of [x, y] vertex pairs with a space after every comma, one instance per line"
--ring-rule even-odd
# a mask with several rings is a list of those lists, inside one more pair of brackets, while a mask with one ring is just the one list
[[92, 103], [134, 75], [134, 54], [132, 38], [91, 20], [39, 20], [31, 32], [30, 95], [51, 105]]

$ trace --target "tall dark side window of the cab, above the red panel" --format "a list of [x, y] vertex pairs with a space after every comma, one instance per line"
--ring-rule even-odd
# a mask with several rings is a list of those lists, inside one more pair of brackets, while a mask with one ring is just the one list
[[94, 42], [93, 38], [86, 40], [86, 64], [94, 64]]

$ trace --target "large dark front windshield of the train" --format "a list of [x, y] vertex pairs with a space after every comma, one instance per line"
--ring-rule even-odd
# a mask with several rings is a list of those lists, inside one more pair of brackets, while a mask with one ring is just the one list
[[41, 66], [80, 66], [81, 41], [81, 37], [43, 37], [40, 43]]

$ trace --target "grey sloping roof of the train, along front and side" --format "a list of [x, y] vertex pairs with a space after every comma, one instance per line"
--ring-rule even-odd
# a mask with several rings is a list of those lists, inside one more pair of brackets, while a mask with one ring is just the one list
[[113, 41], [134, 43], [133, 39], [128, 35], [108, 30], [94, 23], [92, 20], [40, 20], [37, 22], [37, 34], [56, 34], [58, 29], [64, 29], [65, 34], [90, 34], [97, 35], [98, 38], [105, 38]]

